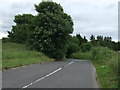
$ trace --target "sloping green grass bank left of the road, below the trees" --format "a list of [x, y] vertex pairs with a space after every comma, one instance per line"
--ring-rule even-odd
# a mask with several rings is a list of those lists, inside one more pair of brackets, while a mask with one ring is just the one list
[[2, 69], [54, 61], [40, 52], [29, 50], [24, 44], [9, 42], [2, 46]]

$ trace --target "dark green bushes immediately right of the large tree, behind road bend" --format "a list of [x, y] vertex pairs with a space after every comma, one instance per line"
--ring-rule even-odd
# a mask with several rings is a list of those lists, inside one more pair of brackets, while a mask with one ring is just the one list
[[81, 37], [80, 34], [77, 34], [76, 36], [70, 36], [69, 37], [69, 43], [68, 43], [68, 49], [67, 49], [67, 57], [70, 57], [72, 53], [78, 52], [79, 50], [83, 52], [90, 51], [92, 48], [91, 43], [87, 43], [87, 39], [84, 36], [84, 38]]

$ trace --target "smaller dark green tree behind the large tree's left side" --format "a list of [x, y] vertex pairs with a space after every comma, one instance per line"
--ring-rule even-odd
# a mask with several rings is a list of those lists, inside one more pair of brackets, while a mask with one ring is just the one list
[[33, 15], [31, 14], [23, 14], [16, 15], [14, 22], [15, 26], [12, 26], [12, 31], [8, 31], [9, 40], [17, 43], [26, 43], [31, 32], [32, 19]]

